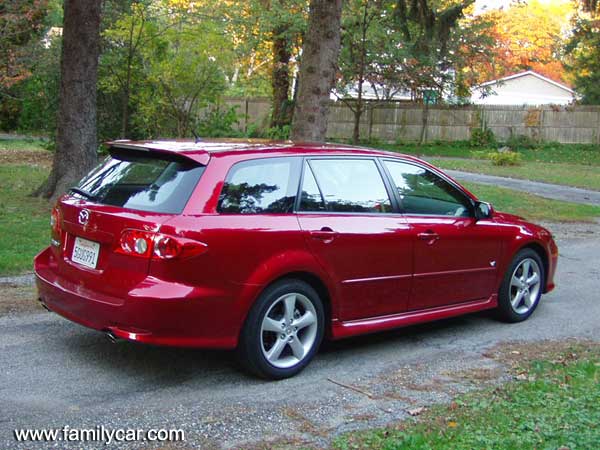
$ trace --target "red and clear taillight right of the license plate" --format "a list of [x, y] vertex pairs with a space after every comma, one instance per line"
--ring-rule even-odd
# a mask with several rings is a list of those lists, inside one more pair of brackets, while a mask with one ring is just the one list
[[154, 259], [191, 258], [207, 250], [203, 242], [141, 230], [125, 230], [115, 249], [117, 253]]

